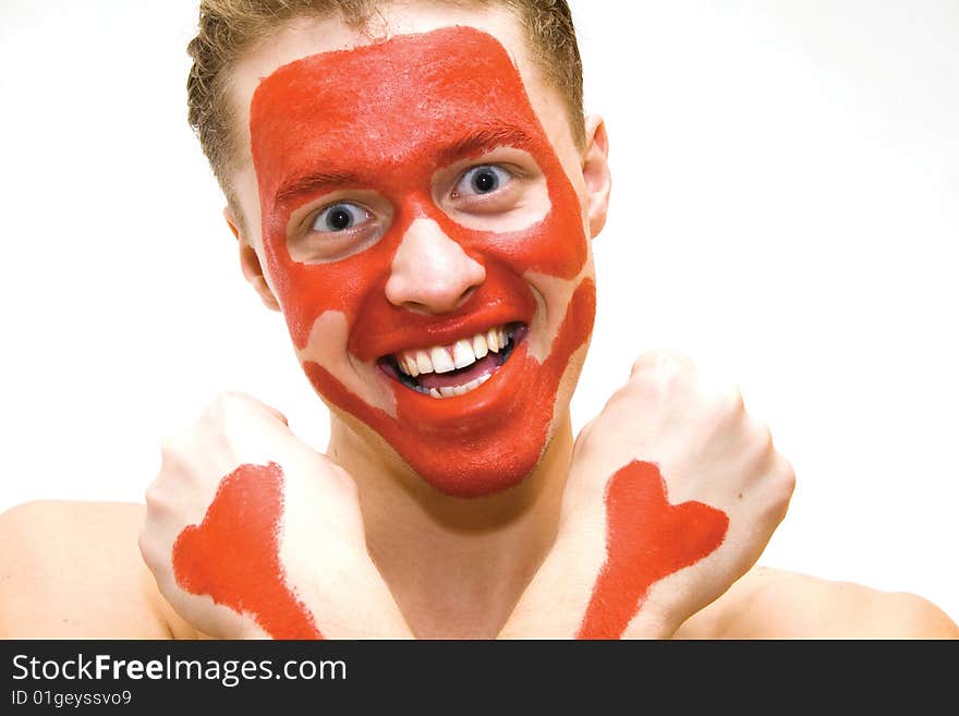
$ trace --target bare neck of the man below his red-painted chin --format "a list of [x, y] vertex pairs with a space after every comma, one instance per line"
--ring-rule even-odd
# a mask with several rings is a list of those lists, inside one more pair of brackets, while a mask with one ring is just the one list
[[332, 418], [327, 454], [356, 481], [369, 555], [413, 634], [496, 636], [556, 537], [569, 411], [537, 468], [486, 497], [442, 495], [374, 445]]

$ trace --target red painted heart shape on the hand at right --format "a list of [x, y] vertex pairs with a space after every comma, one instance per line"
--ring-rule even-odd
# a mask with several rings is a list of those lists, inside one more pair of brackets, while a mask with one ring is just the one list
[[606, 486], [606, 562], [576, 639], [619, 639], [646, 591], [723, 543], [729, 518], [702, 502], [670, 505], [659, 469], [633, 461]]

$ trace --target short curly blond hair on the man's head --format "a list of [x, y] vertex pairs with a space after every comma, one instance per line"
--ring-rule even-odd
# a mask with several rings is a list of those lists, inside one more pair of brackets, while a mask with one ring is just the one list
[[[566, 0], [432, 0], [466, 8], [500, 5], [522, 24], [526, 46], [543, 77], [566, 99], [576, 142], [584, 142], [583, 69]], [[233, 68], [244, 52], [268, 39], [289, 21], [338, 13], [363, 26], [390, 0], [201, 0], [197, 34], [187, 52], [193, 66], [186, 81], [187, 119], [227, 201], [242, 220], [229, 177], [240, 157], [235, 118], [229, 101]]]

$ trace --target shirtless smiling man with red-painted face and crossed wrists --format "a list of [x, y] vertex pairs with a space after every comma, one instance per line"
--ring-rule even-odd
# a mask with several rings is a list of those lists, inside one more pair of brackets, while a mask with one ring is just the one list
[[330, 445], [224, 396], [146, 510], [8, 512], [4, 636], [959, 635], [754, 567], [791, 469], [681, 356], [573, 440], [610, 178], [562, 3], [209, 1], [192, 53], [244, 276]]

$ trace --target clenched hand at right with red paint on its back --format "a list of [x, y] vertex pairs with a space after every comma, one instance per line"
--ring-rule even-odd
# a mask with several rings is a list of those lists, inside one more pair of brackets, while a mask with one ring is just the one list
[[557, 539], [505, 638], [668, 638], [758, 559], [794, 487], [739, 390], [641, 356], [576, 438]]

